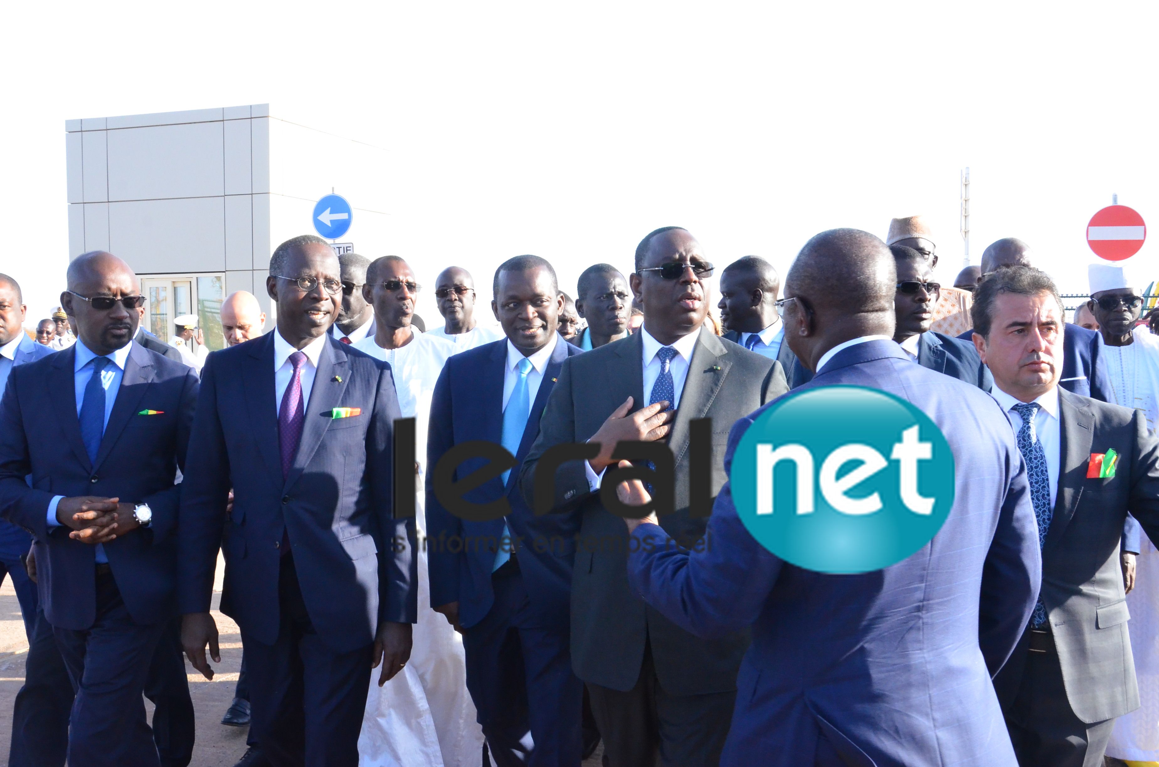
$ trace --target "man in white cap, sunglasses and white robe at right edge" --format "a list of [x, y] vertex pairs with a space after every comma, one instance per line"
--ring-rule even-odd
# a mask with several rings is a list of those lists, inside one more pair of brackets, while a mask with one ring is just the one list
[[[1086, 308], [1099, 323], [1100, 364], [1110, 378], [1111, 401], [1142, 410], [1147, 429], [1159, 424], [1159, 338], [1136, 327], [1143, 298], [1122, 264], [1091, 264], [1091, 300]], [[1132, 761], [1159, 761], [1159, 551], [1144, 536], [1135, 563], [1135, 583], [1128, 592], [1131, 613], [1131, 652], [1143, 707], [1118, 717], [1107, 754]]]

